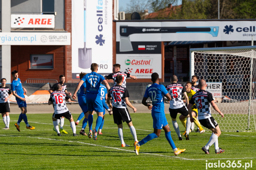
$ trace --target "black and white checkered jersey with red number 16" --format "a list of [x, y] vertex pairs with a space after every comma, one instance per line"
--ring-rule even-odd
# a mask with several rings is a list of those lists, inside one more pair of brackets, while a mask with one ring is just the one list
[[61, 113], [65, 113], [66, 111], [69, 111], [66, 105], [65, 98], [66, 98], [66, 93], [61, 90], [53, 91], [51, 93], [50, 101], [53, 102], [55, 114], [61, 114]]

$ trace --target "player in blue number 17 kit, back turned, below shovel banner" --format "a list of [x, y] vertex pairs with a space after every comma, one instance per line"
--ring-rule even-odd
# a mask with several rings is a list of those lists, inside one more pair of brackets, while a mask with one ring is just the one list
[[[101, 102], [101, 94], [99, 91], [101, 82], [106, 86], [106, 88], [109, 90], [109, 83], [105, 80], [105, 78], [98, 74], [98, 64], [92, 63], [91, 64], [91, 73], [88, 73], [85, 75], [78, 83], [74, 94], [72, 96], [73, 99], [76, 99], [76, 94], [81, 85], [85, 82], [86, 83], [86, 104], [89, 111], [88, 116], [88, 124], [89, 124], [89, 134], [88, 137], [97, 140], [97, 129], [100, 127], [103, 117], [103, 106]], [[96, 111], [98, 118], [96, 120], [96, 127], [92, 131], [90, 127], [93, 124], [93, 111]]]

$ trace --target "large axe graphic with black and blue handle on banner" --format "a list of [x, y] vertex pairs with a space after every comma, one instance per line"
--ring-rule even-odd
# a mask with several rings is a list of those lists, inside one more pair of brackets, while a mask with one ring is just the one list
[[219, 27], [129, 27], [120, 25], [120, 52], [133, 51], [130, 36], [131, 34], [147, 33], [209, 33], [217, 37]]

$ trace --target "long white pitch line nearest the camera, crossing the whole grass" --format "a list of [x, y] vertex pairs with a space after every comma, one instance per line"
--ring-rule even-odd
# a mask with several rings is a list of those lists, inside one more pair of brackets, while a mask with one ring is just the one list
[[[8, 135], [0, 135], [0, 136], [8, 136]], [[10, 137], [20, 137], [20, 136], [13, 136], [11, 135]], [[103, 147], [103, 148], [109, 148], [109, 149], [115, 149], [115, 150], [122, 150], [122, 151], [127, 151], [127, 152], [134, 152], [132, 150], [126, 150], [126, 149], [120, 149], [120, 148], [114, 148], [114, 147], [109, 147], [109, 146], [103, 146], [103, 145], [95, 145], [95, 144], [91, 144], [91, 143], [85, 143], [85, 142], [79, 142], [79, 141], [67, 141], [67, 140], [61, 140], [61, 139], [51, 139], [51, 138], [44, 138], [44, 137], [31, 137], [31, 136], [27, 136], [29, 138], [36, 138], [36, 139], [45, 139], [45, 140], [55, 140], [55, 141], [62, 141], [62, 142], [71, 142], [71, 143], [81, 143], [81, 144], [85, 144], [85, 145], [92, 145], [92, 146], [99, 146], [99, 147]], [[144, 152], [139, 152], [139, 153], [144, 153]], [[155, 154], [155, 153], [144, 153], [147, 155], [154, 155], [154, 156], [163, 156], [163, 157], [171, 157], [171, 158], [179, 158], [179, 159], [183, 159], [183, 160], [187, 160], [187, 161], [200, 161], [200, 160], [232, 160], [232, 159], [256, 159], [256, 158], [204, 158], [204, 159], [190, 159], [190, 158], [181, 158], [178, 156], [168, 156], [168, 155], [160, 155], [160, 154]]]

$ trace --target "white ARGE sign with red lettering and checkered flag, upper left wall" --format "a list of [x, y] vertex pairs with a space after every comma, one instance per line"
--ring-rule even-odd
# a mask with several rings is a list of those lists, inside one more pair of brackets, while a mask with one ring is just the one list
[[55, 15], [12, 14], [12, 28], [54, 28]]

